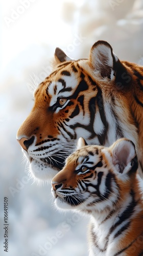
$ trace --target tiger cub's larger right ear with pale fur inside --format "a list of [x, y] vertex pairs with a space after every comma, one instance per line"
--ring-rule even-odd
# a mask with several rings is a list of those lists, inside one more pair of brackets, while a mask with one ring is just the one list
[[112, 163], [119, 173], [136, 172], [138, 168], [135, 145], [131, 140], [119, 139], [111, 145]]

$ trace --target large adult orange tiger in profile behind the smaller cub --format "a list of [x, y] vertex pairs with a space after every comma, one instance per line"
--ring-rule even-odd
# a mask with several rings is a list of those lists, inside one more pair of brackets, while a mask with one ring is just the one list
[[141, 175], [143, 68], [120, 61], [106, 41], [92, 46], [89, 59], [70, 59], [57, 48], [55, 62], [17, 132], [31, 174], [51, 179], [82, 136], [89, 144], [106, 146], [121, 137], [133, 140]]

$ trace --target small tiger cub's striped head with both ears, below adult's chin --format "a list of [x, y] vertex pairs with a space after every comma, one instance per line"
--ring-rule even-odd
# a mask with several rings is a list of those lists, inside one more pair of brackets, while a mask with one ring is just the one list
[[64, 168], [52, 180], [55, 203], [61, 209], [103, 211], [124, 200], [136, 186], [137, 156], [133, 142], [117, 140], [110, 147], [78, 140]]

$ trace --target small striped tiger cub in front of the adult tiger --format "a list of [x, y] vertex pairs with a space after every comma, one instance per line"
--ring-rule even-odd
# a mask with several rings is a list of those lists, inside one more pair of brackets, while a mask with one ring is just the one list
[[89, 255], [143, 255], [143, 202], [135, 146], [119, 139], [110, 147], [78, 140], [52, 180], [58, 208], [91, 217]]

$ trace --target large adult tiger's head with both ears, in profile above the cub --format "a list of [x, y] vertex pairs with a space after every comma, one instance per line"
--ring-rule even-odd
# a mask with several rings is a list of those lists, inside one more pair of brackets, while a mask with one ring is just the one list
[[129, 80], [126, 68], [105, 41], [92, 46], [89, 59], [77, 61], [57, 48], [55, 61], [55, 71], [39, 84], [33, 109], [17, 132], [30, 173], [40, 180], [51, 179], [62, 169], [81, 135], [88, 143], [108, 144], [110, 120], [104, 101], [122, 84], [123, 74], [124, 83]]

